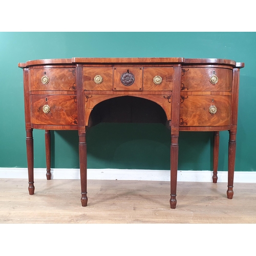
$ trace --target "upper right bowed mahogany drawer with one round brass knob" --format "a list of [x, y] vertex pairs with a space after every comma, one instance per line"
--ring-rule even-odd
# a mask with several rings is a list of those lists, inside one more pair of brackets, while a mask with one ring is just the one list
[[181, 91], [231, 92], [232, 70], [224, 68], [182, 68]]

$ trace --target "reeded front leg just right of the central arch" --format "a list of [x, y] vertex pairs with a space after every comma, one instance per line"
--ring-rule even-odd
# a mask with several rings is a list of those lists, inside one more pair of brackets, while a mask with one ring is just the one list
[[177, 189], [177, 171], [178, 171], [178, 152], [179, 152], [179, 131], [174, 131], [171, 134], [170, 144], [170, 208], [175, 209], [176, 189]]

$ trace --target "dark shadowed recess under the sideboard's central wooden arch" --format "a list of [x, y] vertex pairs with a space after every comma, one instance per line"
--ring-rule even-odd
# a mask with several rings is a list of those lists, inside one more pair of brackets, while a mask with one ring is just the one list
[[88, 127], [100, 122], [162, 123], [169, 127], [163, 108], [156, 102], [136, 96], [119, 96], [94, 106]]

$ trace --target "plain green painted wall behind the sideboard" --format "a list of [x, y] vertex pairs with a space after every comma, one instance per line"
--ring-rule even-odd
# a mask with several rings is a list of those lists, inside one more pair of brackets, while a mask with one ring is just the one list
[[[240, 72], [236, 170], [255, 171], [256, 33], [1, 32], [0, 167], [26, 167], [23, 72], [18, 62], [71, 57], [225, 58]], [[221, 132], [219, 170], [227, 170]], [[170, 132], [161, 124], [100, 123], [88, 131], [89, 168], [169, 169]], [[180, 170], [209, 170], [212, 134], [181, 132]], [[45, 167], [44, 131], [34, 130], [34, 164]], [[52, 167], [78, 168], [77, 131], [52, 132]]]

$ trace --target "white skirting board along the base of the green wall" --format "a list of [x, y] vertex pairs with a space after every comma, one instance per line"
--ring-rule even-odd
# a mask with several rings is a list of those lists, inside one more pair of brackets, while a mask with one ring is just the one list
[[[80, 179], [79, 169], [53, 168], [52, 179]], [[0, 167], [0, 178], [27, 179], [27, 168]], [[88, 169], [88, 180], [170, 181], [169, 170]], [[34, 168], [34, 179], [46, 179], [45, 168]], [[211, 170], [178, 170], [178, 181], [212, 182]], [[227, 182], [227, 172], [218, 172], [218, 182]], [[256, 183], [256, 172], [234, 172], [234, 182]]]

